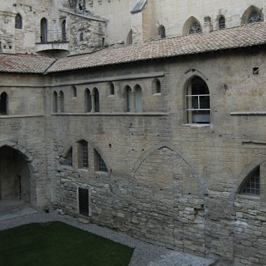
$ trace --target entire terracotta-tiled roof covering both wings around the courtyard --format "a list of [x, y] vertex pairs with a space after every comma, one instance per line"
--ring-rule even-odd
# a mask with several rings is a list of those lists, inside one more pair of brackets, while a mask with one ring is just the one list
[[189, 34], [120, 48], [104, 48], [57, 60], [38, 55], [0, 54], [0, 72], [53, 73], [263, 44], [266, 44], [266, 22], [220, 29], [209, 34]]

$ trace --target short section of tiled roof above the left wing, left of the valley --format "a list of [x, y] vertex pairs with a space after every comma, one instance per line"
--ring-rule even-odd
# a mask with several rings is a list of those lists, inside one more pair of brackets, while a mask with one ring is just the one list
[[43, 73], [55, 59], [39, 55], [0, 54], [0, 72]]

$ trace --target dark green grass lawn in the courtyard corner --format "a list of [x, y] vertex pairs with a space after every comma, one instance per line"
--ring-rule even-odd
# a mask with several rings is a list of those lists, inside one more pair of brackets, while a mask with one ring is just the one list
[[0, 231], [1, 266], [126, 266], [133, 251], [59, 222]]

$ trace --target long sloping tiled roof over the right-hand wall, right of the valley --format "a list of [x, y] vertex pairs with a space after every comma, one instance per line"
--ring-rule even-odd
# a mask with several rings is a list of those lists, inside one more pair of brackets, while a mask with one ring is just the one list
[[147, 59], [193, 55], [202, 52], [244, 48], [266, 43], [266, 22], [220, 29], [209, 34], [189, 34], [120, 48], [105, 48], [85, 55], [63, 57], [48, 72], [84, 69]]

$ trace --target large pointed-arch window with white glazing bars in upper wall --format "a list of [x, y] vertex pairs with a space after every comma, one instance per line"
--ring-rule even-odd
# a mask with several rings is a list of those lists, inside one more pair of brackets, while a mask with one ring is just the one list
[[187, 123], [210, 123], [210, 97], [207, 84], [200, 77], [193, 78], [186, 88]]

